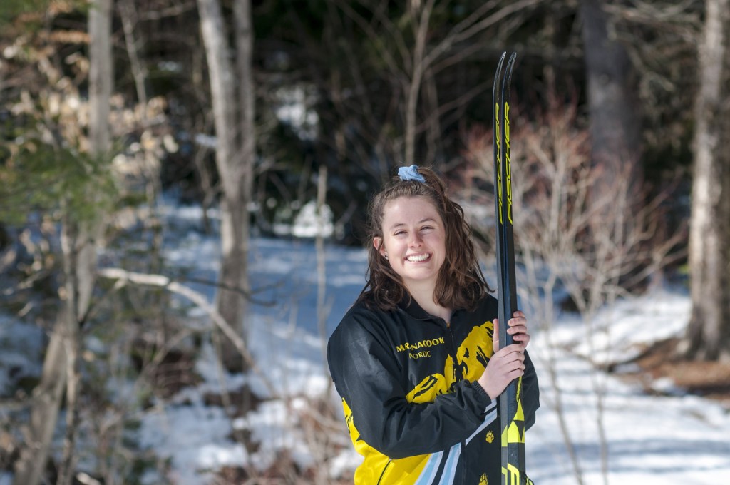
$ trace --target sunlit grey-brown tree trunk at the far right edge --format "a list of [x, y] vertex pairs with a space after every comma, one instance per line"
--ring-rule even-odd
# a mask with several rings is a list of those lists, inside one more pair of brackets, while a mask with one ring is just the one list
[[730, 0], [707, 0], [699, 44], [689, 264], [688, 356], [730, 359]]

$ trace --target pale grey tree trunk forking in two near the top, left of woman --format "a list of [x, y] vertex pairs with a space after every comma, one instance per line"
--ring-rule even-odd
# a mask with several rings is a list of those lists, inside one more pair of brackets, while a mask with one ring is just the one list
[[[210, 73], [217, 145], [216, 166], [223, 186], [221, 201], [221, 259], [218, 312], [245, 335], [247, 302], [242, 291], [249, 289], [247, 258], [250, 222], [248, 205], [253, 192], [255, 156], [253, 99], [253, 25], [250, 1], [234, 2], [234, 52], [226, 37], [226, 23], [218, 0], [198, 0], [201, 32]], [[223, 362], [241, 370], [244, 362], [230, 340], [223, 340]]]

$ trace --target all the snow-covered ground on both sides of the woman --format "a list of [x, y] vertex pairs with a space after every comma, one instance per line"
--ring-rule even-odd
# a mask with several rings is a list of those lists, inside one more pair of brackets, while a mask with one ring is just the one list
[[[186, 218], [197, 224], [196, 210], [176, 210], [177, 224]], [[218, 242], [185, 232], [176, 238], [169, 259], [180, 266], [193, 267], [200, 278], [213, 279], [218, 264]], [[323, 340], [337, 325], [364, 283], [365, 254], [358, 249], [328, 246], [326, 259], [326, 294], [328, 316], [323, 330], [318, 326], [317, 255], [312, 242], [256, 238], [253, 241], [252, 281], [266, 291], [258, 299], [276, 302], [272, 307], [255, 305], [249, 342], [261, 362], [266, 378], [288, 395], [315, 396], [328, 384], [323, 361]], [[492, 278], [493, 279], [493, 278]], [[209, 294], [206, 286], [195, 286]], [[612, 355], [620, 360], [636, 351], [640, 343], [678, 335], [688, 321], [688, 296], [679, 291], [655, 291], [653, 294], [621, 302], [601, 318], [610, 318], [611, 348], [624, 354]], [[0, 321], [0, 343], [11, 338], [12, 321]], [[17, 329], [16, 329], [17, 330]], [[324, 334], [324, 335], [322, 335]], [[529, 350], [541, 383], [542, 407], [537, 424], [527, 433], [529, 476], [539, 485], [575, 484], [573, 461], [561, 433], [556, 402], [561, 402], [568, 421], [570, 443], [585, 484], [603, 484], [602, 456], [607, 460], [609, 484], [721, 484], [730, 481], [730, 414], [720, 405], [684, 395], [679, 389], [657, 386], [664, 395], [648, 396], [612, 375], [596, 373], [581, 357], [587, 352], [588, 338], [583, 325], [565, 320], [545, 333], [532, 332]], [[574, 343], [572, 351], [550, 347], [552, 342]], [[212, 354], [211, 354], [212, 355]], [[6, 359], [5, 356], [8, 358]], [[8, 359], [17, 367], [18, 354], [4, 354], [0, 371], [8, 368]], [[548, 362], [557, 362], [559, 392], [550, 381]], [[202, 395], [220, 389], [212, 356], [197, 366], [204, 382], [185, 389], [172, 402], [147, 412], [139, 438], [144, 446], [154, 448], [171, 459], [169, 478], [177, 485], [207, 483], [210, 470], [223, 465], [271, 464], [277, 450], [291, 452], [306, 464], [310, 453], [301, 437], [293, 435], [285, 422], [283, 403], [264, 403], [255, 413], [234, 422], [245, 427], [262, 446], [255, 454], [229, 439], [231, 421], [220, 408], [205, 406]], [[37, 371], [37, 370], [36, 370]], [[0, 372], [0, 386], [3, 385]], [[247, 381], [253, 389], [264, 386], [257, 377], [226, 376], [230, 389]], [[604, 389], [602, 413], [596, 393]], [[339, 402], [331, 395], [333, 402]], [[294, 403], [295, 405], [297, 402]], [[600, 419], [599, 419], [600, 417]], [[602, 422], [604, 440], [597, 423]], [[345, 424], [342, 436], [345, 438]], [[346, 438], [345, 438], [346, 439]], [[602, 441], [606, 446], [602, 446]], [[351, 470], [358, 457], [347, 451], [333, 460], [338, 470]], [[337, 472], [338, 470], [334, 470]], [[8, 477], [0, 475], [0, 485]], [[9, 483], [9, 482], [8, 482]], [[150, 478], [150, 483], [153, 483]]]

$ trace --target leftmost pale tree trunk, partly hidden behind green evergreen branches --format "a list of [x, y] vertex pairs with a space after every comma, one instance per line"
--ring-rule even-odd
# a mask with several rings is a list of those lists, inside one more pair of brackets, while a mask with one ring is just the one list
[[[89, 151], [91, 157], [106, 155], [110, 148], [110, 97], [112, 93], [111, 1], [96, 0], [89, 9]], [[100, 163], [96, 161], [94, 163]], [[93, 187], [89, 188], [93, 201]], [[41, 381], [34, 389], [26, 448], [15, 465], [16, 485], [41, 483], [50, 454], [58, 410], [66, 391], [66, 437], [58, 484], [72, 483], [75, 468], [77, 397], [80, 395], [80, 323], [91, 305], [95, 282], [96, 248], [101, 219], [77, 221], [64, 215], [61, 249], [64, 260], [65, 301], [59, 305], [43, 363]]]

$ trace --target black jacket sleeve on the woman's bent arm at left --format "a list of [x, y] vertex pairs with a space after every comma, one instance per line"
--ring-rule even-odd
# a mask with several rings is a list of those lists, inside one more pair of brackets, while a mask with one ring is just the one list
[[392, 345], [365, 318], [345, 316], [327, 349], [337, 392], [352, 410], [360, 439], [399, 459], [442, 451], [472, 435], [491, 405], [482, 386], [461, 381], [434, 402], [407, 402]]

